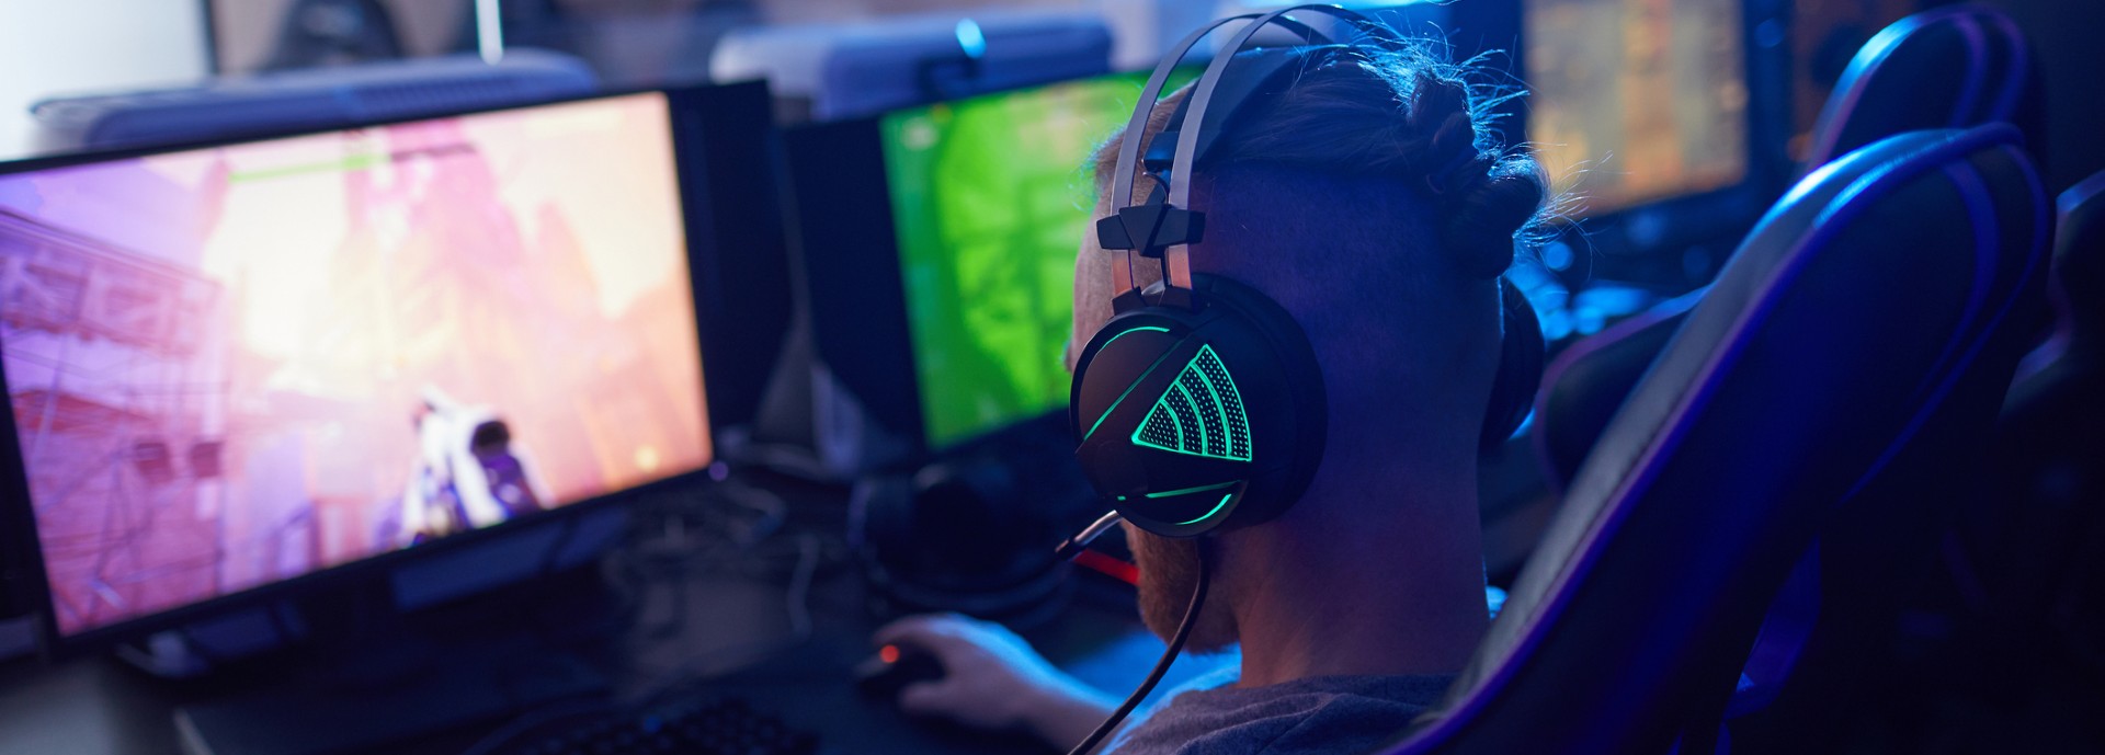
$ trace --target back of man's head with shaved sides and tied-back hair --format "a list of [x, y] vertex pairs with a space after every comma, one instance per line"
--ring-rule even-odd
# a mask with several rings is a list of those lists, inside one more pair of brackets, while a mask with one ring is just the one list
[[[1501, 149], [1492, 93], [1467, 74], [1431, 42], [1320, 53], [1238, 114], [1194, 170], [1191, 204], [1206, 212], [1194, 269], [1263, 290], [1307, 332], [1330, 458], [1396, 458], [1406, 440], [1474, 454], [1499, 362], [1497, 276], [1545, 187], [1530, 158]], [[1149, 137], [1185, 95], [1156, 107]], [[1116, 151], [1097, 156], [1105, 200]], [[1147, 189], [1143, 177], [1139, 198]], [[1427, 463], [1452, 461], [1438, 456]]]

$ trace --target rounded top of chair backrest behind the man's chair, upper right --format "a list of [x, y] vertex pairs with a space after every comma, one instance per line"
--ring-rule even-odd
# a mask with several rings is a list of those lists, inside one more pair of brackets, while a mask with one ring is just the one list
[[2042, 99], [2040, 67], [2008, 15], [1974, 4], [1916, 13], [1850, 59], [1812, 124], [1800, 175], [1899, 132], [1998, 122], [2017, 126], [2038, 162]]

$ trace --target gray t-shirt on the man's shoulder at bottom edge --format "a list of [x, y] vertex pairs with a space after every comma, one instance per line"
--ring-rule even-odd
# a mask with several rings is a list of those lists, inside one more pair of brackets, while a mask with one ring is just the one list
[[1452, 681], [1452, 675], [1307, 677], [1265, 688], [1200, 688], [1128, 726], [1109, 755], [1366, 753], [1396, 740]]

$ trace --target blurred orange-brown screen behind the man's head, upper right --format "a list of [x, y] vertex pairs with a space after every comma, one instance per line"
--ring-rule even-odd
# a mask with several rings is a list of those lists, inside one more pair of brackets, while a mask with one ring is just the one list
[[1577, 215], [1747, 177], [1737, 0], [1526, 0], [1528, 141]]

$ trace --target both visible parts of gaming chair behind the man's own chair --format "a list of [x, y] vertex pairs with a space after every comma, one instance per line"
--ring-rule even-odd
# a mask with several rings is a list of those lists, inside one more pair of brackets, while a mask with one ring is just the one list
[[[1812, 126], [1800, 175], [1871, 141], [1930, 128], [2008, 122], [2033, 158], [2044, 137], [2042, 78], [2023, 32], [1983, 6], [1945, 6], [1894, 21], [1850, 59]], [[1537, 397], [1535, 448], [1562, 486], [1608, 416], [1701, 297], [1665, 301], [1558, 353]]]

